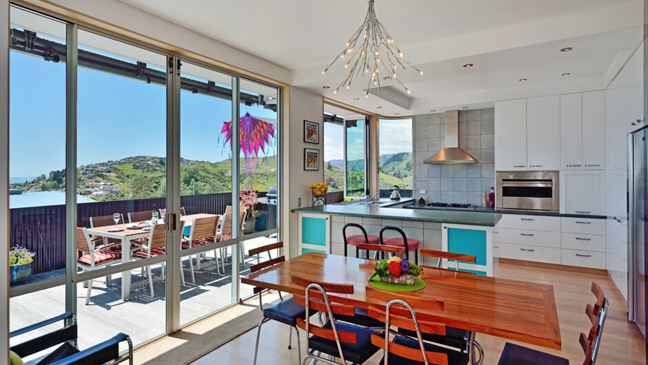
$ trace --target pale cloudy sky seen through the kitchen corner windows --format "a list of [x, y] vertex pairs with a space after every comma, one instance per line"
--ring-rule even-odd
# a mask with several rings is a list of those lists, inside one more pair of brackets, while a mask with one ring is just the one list
[[[360, 128], [352, 128], [347, 136], [349, 160], [363, 158], [363, 136]], [[378, 122], [380, 154], [412, 152], [412, 119], [381, 119]], [[344, 135], [342, 125], [324, 123], [324, 161], [344, 158]]]

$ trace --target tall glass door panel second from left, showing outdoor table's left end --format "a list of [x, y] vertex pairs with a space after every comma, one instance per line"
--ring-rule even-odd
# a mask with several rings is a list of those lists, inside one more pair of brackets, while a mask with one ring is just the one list
[[[75, 266], [87, 272], [168, 248], [162, 221], [152, 226], [166, 207], [167, 57], [78, 34]], [[134, 344], [165, 332], [163, 264], [142, 265], [77, 286], [79, 331], [90, 342], [84, 347], [119, 332]]]

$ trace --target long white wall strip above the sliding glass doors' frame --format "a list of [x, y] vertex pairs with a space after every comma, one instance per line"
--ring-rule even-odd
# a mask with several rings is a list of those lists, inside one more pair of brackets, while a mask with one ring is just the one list
[[230, 45], [174, 25], [116, 0], [52, 0], [50, 3], [276, 81], [290, 82], [290, 70], [285, 67], [237, 50]]

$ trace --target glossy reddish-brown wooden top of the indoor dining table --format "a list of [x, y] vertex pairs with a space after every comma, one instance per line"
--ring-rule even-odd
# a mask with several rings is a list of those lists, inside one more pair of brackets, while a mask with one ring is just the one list
[[[366, 293], [375, 262], [312, 251], [251, 273], [241, 282], [302, 295], [305, 288], [296, 284], [293, 276], [312, 282], [353, 284], [354, 293], [329, 296], [366, 309], [371, 304], [387, 304]], [[445, 304], [441, 311], [414, 309], [439, 317], [447, 326], [560, 349], [554, 286], [446, 269], [425, 269], [423, 274], [425, 288], [407, 293], [389, 291], [389, 298], [406, 302], [407, 298], [441, 300]]]

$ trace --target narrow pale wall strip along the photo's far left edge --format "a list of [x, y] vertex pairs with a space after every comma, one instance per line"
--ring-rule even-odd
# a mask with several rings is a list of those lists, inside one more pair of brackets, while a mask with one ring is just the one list
[[[0, 5], [0, 358], [9, 354], [9, 1]], [[4, 354], [4, 355], [2, 355]], [[0, 361], [1, 362], [1, 361]]]

